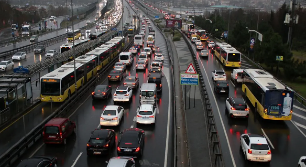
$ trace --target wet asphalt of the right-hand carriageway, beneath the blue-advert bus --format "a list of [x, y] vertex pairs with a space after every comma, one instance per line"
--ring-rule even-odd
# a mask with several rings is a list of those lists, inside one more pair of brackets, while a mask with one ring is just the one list
[[[204, 44], [204, 43], [203, 43]], [[193, 49], [196, 52], [195, 45]], [[205, 47], [207, 49], [207, 46]], [[208, 95], [211, 100], [213, 112], [217, 129], [219, 131], [219, 137], [222, 145], [222, 153], [225, 159], [227, 167], [252, 167], [258, 166], [271, 166], [271, 167], [288, 167], [295, 166], [301, 156], [304, 156], [304, 150], [306, 149], [305, 132], [306, 129], [296, 126], [304, 123], [306, 125], [306, 113], [305, 109], [297, 108], [300, 103], [294, 100], [293, 105], [293, 118], [292, 121], [269, 121], [258, 118], [254, 114], [254, 108], [252, 104], [248, 103], [250, 107], [249, 118], [243, 119], [229, 119], [225, 114], [225, 100], [228, 97], [242, 97], [244, 94], [241, 90], [241, 85], [237, 87], [231, 82], [230, 74], [232, 69], [223, 68], [222, 64], [216, 59], [213, 54], [209, 52], [208, 59], [201, 58], [200, 52], [197, 52], [197, 60], [200, 64], [205, 85]], [[246, 60], [241, 60], [242, 68], [254, 68], [248, 64]], [[216, 95], [212, 89], [213, 81], [211, 80], [211, 71], [215, 69], [224, 69], [226, 71], [226, 78], [229, 82], [230, 93], [227, 95]], [[221, 119], [220, 119], [221, 118]], [[272, 160], [269, 164], [262, 163], [248, 163], [244, 160], [243, 153], [239, 150], [240, 136], [243, 133], [264, 134], [268, 139]]]

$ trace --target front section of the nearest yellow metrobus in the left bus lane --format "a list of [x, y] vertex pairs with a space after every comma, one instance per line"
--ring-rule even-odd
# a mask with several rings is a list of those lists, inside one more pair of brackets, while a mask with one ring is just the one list
[[77, 89], [84, 84], [84, 65], [76, 63], [75, 66], [76, 76], [74, 76], [74, 64], [67, 63], [40, 78], [41, 101], [66, 100], [75, 92], [74, 77], [76, 77]]

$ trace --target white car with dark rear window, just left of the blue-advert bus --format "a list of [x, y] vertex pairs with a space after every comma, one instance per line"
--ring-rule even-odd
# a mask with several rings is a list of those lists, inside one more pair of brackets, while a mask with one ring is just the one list
[[225, 100], [225, 110], [229, 118], [248, 118], [249, 109], [242, 97], [230, 97]]

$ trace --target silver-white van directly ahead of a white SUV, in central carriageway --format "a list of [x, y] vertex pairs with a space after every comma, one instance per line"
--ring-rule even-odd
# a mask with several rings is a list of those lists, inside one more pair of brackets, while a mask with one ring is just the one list
[[139, 91], [139, 103], [140, 104], [156, 104], [156, 84], [155, 83], [143, 83]]

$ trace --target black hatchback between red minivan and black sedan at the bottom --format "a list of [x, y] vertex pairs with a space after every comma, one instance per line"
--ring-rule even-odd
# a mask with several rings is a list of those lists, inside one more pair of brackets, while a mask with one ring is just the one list
[[87, 143], [87, 155], [105, 154], [115, 146], [116, 133], [111, 129], [95, 129]]

